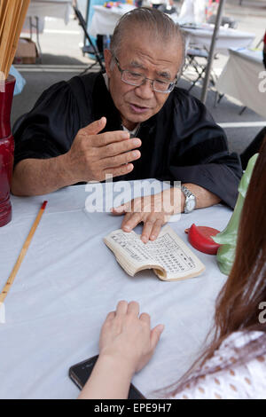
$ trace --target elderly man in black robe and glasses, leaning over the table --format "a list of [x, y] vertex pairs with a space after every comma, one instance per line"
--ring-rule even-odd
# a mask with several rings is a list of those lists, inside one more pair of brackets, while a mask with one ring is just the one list
[[[106, 174], [181, 181], [181, 189], [156, 194], [152, 202], [144, 197], [113, 209], [127, 212], [121, 225], [126, 232], [144, 223], [145, 242], [156, 239], [174, 212], [219, 201], [234, 207], [239, 158], [229, 154], [223, 130], [205, 106], [175, 87], [184, 43], [173, 21], [157, 10], [127, 13], [105, 59], [106, 74], [53, 85], [20, 124], [12, 193], [51, 193], [105, 180]], [[176, 207], [158, 209], [161, 199], [176, 195]]]

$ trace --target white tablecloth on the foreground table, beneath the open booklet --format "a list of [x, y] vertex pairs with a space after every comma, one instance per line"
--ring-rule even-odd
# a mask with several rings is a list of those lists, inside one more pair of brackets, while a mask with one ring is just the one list
[[[129, 277], [103, 242], [120, 227], [121, 217], [86, 212], [88, 195], [77, 185], [47, 196], [12, 197], [12, 223], [0, 228], [1, 288], [41, 203], [48, 200], [48, 205], [5, 299], [0, 398], [77, 397], [68, 369], [98, 353], [100, 327], [121, 299], [140, 302], [153, 326], [165, 324], [153, 359], [133, 380], [145, 395], [184, 374], [205, 339], [226, 279], [215, 256], [196, 251], [207, 269], [194, 279], [165, 282], [153, 271]], [[222, 230], [230, 216], [231, 209], [218, 205], [170, 225], [187, 240], [184, 229], [192, 223]]]

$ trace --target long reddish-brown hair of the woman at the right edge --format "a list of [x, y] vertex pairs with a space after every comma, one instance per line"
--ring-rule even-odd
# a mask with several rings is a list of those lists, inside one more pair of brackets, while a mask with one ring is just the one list
[[[207, 350], [196, 360], [191, 369], [178, 382], [163, 389], [164, 396], [175, 396], [189, 384], [191, 387], [200, 376], [228, 369], [230, 358], [218, 367], [202, 369], [208, 358], [232, 333], [263, 332], [250, 340], [240, 350], [234, 349], [234, 365], [246, 363], [251, 358], [266, 353], [266, 324], [259, 321], [259, 306], [266, 302], [266, 138], [264, 138], [254, 171], [247, 189], [239, 224], [235, 261], [229, 278], [215, 304], [215, 335]], [[263, 320], [264, 321], [264, 320]], [[209, 336], [209, 334], [208, 334]], [[229, 343], [230, 344], [230, 343]], [[195, 373], [192, 370], [197, 368]], [[161, 391], [160, 391], [161, 393]]]

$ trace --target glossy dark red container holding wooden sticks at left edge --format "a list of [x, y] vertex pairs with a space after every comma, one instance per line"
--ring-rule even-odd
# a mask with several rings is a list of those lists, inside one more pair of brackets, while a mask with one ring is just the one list
[[0, 227], [12, 219], [10, 190], [14, 160], [14, 139], [12, 137], [10, 114], [16, 79], [9, 75], [0, 81]]

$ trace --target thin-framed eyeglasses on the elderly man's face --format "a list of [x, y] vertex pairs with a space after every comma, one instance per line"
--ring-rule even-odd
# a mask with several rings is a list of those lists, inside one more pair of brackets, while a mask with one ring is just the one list
[[164, 81], [160, 80], [151, 80], [151, 78], [147, 78], [142, 74], [129, 71], [128, 69], [122, 69], [120, 67], [118, 59], [116, 57], [114, 57], [114, 59], [119, 71], [121, 72], [121, 81], [123, 81], [124, 83], [140, 87], [142, 84], [145, 83], [146, 80], [149, 80], [154, 91], [163, 93], [171, 92], [175, 88], [176, 78], [172, 83], [165, 83]]

